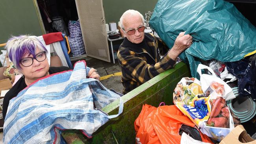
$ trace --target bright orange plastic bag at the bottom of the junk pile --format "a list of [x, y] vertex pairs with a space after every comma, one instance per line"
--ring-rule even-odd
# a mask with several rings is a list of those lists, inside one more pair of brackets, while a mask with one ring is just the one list
[[[195, 127], [195, 124], [175, 105], [156, 108], [145, 104], [134, 122], [136, 142], [141, 144], [180, 144], [179, 129], [182, 124]], [[213, 143], [208, 136], [201, 132], [200, 135], [203, 142]]]

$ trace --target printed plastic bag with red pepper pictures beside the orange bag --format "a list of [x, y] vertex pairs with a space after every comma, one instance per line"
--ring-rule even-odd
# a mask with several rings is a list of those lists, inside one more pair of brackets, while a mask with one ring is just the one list
[[200, 88], [195, 78], [182, 78], [174, 89], [173, 102], [202, 133], [221, 141], [240, 121], [226, 105], [223, 84], [213, 81], [205, 93]]

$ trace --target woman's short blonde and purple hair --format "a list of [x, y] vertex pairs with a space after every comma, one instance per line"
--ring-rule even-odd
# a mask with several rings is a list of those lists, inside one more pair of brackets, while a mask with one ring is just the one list
[[26, 54], [36, 55], [36, 48], [48, 52], [45, 46], [35, 37], [29, 35], [13, 36], [6, 42], [6, 50], [9, 59], [18, 70], [21, 70], [20, 60]]

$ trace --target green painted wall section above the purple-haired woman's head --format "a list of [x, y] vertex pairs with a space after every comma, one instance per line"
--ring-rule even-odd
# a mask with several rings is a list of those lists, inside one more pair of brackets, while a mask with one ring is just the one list
[[1, 0], [0, 44], [10, 35], [24, 34], [43, 34], [33, 0]]

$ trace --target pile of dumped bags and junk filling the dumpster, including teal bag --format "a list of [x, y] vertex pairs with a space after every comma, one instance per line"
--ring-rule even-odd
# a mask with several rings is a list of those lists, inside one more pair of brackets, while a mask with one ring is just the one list
[[150, 27], [171, 48], [186, 31], [193, 44], [180, 59], [174, 105], [143, 105], [137, 143], [255, 144], [256, 28], [224, 0], [158, 0]]

